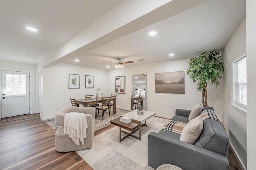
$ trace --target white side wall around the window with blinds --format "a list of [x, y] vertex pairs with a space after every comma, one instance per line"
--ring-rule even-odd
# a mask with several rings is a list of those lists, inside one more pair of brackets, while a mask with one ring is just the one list
[[246, 54], [246, 18], [236, 29], [223, 50], [224, 78], [222, 86], [223, 117], [230, 145], [246, 168], [246, 115], [235, 109], [233, 102], [232, 63]]

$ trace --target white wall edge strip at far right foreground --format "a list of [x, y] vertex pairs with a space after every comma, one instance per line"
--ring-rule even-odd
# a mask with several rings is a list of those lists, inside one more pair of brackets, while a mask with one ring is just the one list
[[256, 1], [246, 0], [247, 169], [256, 167]]

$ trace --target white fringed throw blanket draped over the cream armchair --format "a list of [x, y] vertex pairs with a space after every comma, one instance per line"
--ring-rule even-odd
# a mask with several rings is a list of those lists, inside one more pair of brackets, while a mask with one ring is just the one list
[[64, 134], [68, 135], [76, 145], [84, 145], [86, 129], [88, 127], [86, 115], [84, 113], [70, 112], [64, 117]]

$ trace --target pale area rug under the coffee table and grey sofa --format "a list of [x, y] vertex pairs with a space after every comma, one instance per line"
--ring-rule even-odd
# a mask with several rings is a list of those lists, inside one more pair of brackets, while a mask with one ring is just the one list
[[[142, 127], [141, 141], [128, 137], [120, 143], [119, 127], [113, 127], [94, 137], [91, 149], [76, 152], [94, 170], [154, 170], [148, 166], [148, 134], [159, 132], [167, 122], [168, 119], [151, 117], [146, 121], [148, 126]], [[138, 131], [134, 134], [138, 136]]]

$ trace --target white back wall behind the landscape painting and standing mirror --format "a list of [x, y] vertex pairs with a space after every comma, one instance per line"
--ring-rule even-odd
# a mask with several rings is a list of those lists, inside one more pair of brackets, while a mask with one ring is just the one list
[[[117, 107], [130, 109], [132, 96], [132, 75], [147, 74], [146, 77], [146, 110], [155, 111], [160, 117], [170, 118], [175, 115], [176, 108], [192, 109], [202, 103], [201, 92], [197, 92], [196, 84], [187, 75], [188, 59], [177, 59], [158, 63], [142, 64], [116, 70], [108, 70], [108, 91], [115, 91], [115, 76], [126, 76], [126, 94], [117, 94]], [[155, 73], [185, 71], [185, 94], [155, 93]], [[111, 81], [110, 81], [111, 80]], [[208, 85], [208, 105], [221, 115], [221, 86], [215, 88]]]

